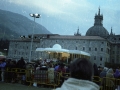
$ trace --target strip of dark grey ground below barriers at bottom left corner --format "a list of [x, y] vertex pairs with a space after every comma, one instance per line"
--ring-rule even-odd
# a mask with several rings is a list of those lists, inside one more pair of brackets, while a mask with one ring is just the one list
[[19, 83], [0, 82], [0, 90], [53, 90], [51, 87], [44, 88], [43, 86], [27, 86]]

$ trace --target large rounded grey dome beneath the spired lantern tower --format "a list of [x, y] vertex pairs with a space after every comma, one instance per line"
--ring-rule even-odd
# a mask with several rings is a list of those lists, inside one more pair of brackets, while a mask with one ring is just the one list
[[92, 26], [89, 28], [86, 32], [86, 36], [108, 36], [108, 31], [103, 27], [99, 25]]

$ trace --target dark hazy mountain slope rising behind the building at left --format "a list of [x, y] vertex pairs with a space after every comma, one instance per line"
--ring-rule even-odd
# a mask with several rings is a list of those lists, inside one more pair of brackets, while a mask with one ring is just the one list
[[[34, 29], [34, 30], [33, 30]], [[51, 34], [44, 26], [27, 17], [0, 10], [0, 38], [16, 38], [20, 35]]]

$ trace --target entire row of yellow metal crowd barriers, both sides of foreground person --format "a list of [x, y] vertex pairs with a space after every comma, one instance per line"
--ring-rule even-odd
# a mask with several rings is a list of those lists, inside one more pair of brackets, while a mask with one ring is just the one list
[[[62, 72], [48, 72], [47, 70], [34, 70], [34, 69], [19, 69], [19, 68], [6, 68], [4, 71], [5, 79], [10, 79], [10, 74], [18, 80], [22, 80], [21, 77], [17, 75], [25, 75], [26, 82], [29, 82], [29, 85], [32, 85], [34, 82], [37, 84], [42, 84], [46, 86], [53, 86], [54, 88], [61, 84], [61, 77], [64, 80], [67, 80], [70, 77], [70, 73], [62, 73]], [[54, 74], [54, 77], [50, 77]], [[9, 78], [7, 76], [9, 76]], [[16, 75], [16, 76], [15, 76]], [[99, 76], [93, 76], [92, 81], [97, 83], [100, 86], [100, 90], [115, 90], [120, 88], [120, 79], [116, 78], [100, 78]], [[119, 89], [118, 89], [119, 90]]]

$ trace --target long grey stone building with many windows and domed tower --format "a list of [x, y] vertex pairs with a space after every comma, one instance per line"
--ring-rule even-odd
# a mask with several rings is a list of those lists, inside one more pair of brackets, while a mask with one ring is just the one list
[[[34, 35], [31, 59], [49, 58], [45, 52], [36, 52], [36, 48], [49, 48], [54, 44], [60, 44], [62, 48], [69, 50], [81, 50], [89, 53], [90, 60], [98, 66], [104, 66], [105, 62], [120, 62], [120, 35], [109, 32], [103, 26], [103, 15], [95, 15], [94, 26], [90, 27], [85, 36], [79, 33], [74, 35], [36, 34]], [[31, 38], [24, 37], [11, 40], [8, 58], [19, 59], [24, 57], [27, 61], [30, 56]]]

